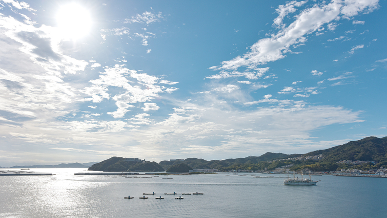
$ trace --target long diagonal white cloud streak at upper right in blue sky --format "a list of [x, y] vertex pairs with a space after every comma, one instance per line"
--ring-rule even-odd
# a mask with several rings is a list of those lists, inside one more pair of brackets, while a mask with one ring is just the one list
[[[291, 51], [289, 49], [291, 45], [305, 43], [305, 35], [315, 32], [325, 23], [339, 20], [340, 14], [343, 15], [343, 18], [349, 18], [358, 13], [369, 13], [377, 7], [378, 0], [331, 1], [327, 4], [325, 2], [315, 4], [299, 13], [296, 20], [289, 26], [280, 29], [276, 34], [272, 34], [270, 38], [261, 39], [252, 45], [250, 52], [230, 61], [224, 61], [221, 66], [214, 66], [212, 69], [235, 71], [242, 66], [252, 68], [282, 59], [285, 57], [285, 53]], [[277, 23], [280, 24], [280, 21], [282, 21], [281, 17]]]

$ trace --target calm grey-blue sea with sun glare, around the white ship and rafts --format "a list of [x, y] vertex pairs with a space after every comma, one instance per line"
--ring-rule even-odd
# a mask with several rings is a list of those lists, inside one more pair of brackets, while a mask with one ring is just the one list
[[[312, 175], [321, 180], [316, 186], [288, 186], [286, 174], [74, 175], [86, 170], [35, 168], [30, 171], [56, 175], [0, 176], [0, 218], [387, 217], [387, 178]], [[203, 195], [182, 195], [196, 192]]]

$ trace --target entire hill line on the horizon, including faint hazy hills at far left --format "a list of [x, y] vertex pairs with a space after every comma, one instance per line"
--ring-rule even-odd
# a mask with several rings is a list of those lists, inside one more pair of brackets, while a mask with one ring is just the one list
[[[324, 158], [319, 160], [298, 159], [290, 160], [291, 157], [300, 156], [317, 156], [322, 155]], [[89, 168], [91, 171], [131, 171], [131, 172], [159, 172], [168, 168], [184, 163], [194, 169], [219, 169], [227, 170], [274, 170], [275, 168], [287, 165], [291, 170], [311, 169], [314, 171], [331, 171], [336, 169], [361, 168], [372, 169], [387, 167], [387, 137], [367, 137], [358, 141], [351, 141], [344, 145], [335, 146], [325, 150], [318, 150], [305, 154], [285, 154], [285, 153], [265, 153], [261, 156], [248, 156], [244, 158], [225, 159], [225, 160], [204, 160], [199, 158], [186, 158], [184, 160], [163, 160], [156, 162], [130, 162], [124, 161], [123, 157], [111, 157], [102, 162], [90, 163], [68, 163], [58, 165], [30, 165], [30, 166], [13, 166], [11, 168]], [[274, 159], [283, 159], [281, 161], [271, 161]], [[338, 164], [340, 160], [360, 160], [376, 161], [377, 164], [365, 163], [363, 165]]]

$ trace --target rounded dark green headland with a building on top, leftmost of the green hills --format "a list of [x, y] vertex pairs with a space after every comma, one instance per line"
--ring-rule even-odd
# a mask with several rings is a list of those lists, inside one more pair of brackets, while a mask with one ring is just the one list
[[105, 172], [163, 172], [164, 169], [156, 162], [124, 161], [123, 157], [111, 157], [94, 164], [88, 170]]

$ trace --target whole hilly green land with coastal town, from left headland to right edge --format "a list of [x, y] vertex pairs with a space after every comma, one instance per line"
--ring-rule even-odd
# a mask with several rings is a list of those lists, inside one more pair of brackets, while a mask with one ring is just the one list
[[[181, 165], [184, 164], [184, 165]], [[340, 171], [387, 168], [387, 137], [367, 137], [333, 148], [305, 154], [265, 153], [261, 156], [211, 160], [198, 158], [164, 160], [159, 164], [138, 158], [112, 157], [94, 164], [88, 170], [106, 172], [173, 172], [183, 167], [213, 171]], [[187, 172], [186, 169], [183, 170]]]

